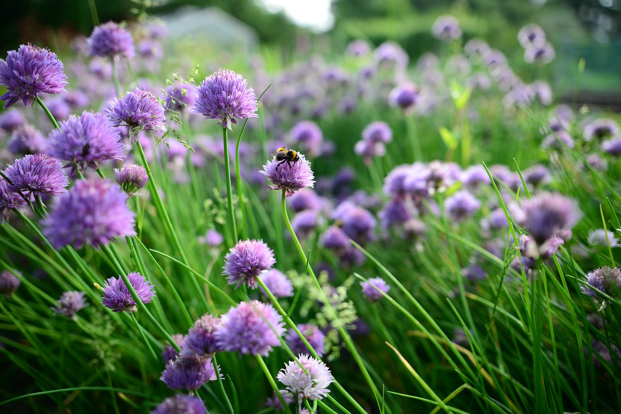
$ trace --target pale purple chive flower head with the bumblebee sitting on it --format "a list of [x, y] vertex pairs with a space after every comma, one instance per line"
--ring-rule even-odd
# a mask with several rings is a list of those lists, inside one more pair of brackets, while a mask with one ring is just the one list
[[294, 192], [306, 187], [312, 187], [315, 176], [311, 169], [311, 163], [306, 160], [304, 155], [297, 153], [299, 161], [289, 165], [280, 161], [268, 161], [263, 166], [263, 171], [259, 173], [266, 176], [273, 185], [268, 186], [270, 190], [284, 190], [287, 197], [291, 197]]

